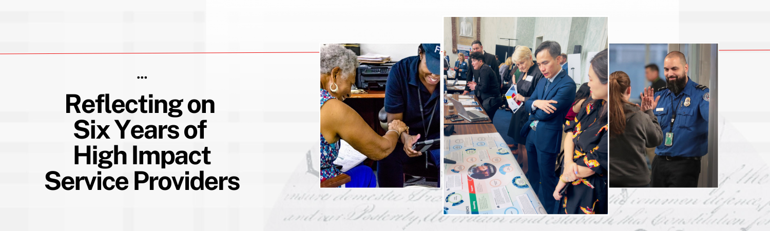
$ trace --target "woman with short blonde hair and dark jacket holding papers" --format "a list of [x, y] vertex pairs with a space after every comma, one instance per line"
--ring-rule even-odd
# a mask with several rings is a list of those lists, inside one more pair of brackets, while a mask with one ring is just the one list
[[[517, 102], [521, 102], [521, 105], [524, 105], [524, 102], [527, 101], [530, 95], [532, 95], [532, 92], [534, 92], [534, 87], [537, 85], [537, 82], [540, 81], [540, 79], [543, 79], [544, 76], [543, 73], [540, 72], [540, 68], [537, 67], [537, 63], [532, 62], [532, 52], [528, 47], [524, 45], [517, 46], [516, 51], [511, 58], [519, 69], [519, 72], [521, 72], [521, 75], [511, 78], [511, 82], [520, 79], [516, 84], [516, 92], [518, 92], [518, 95], [514, 96], [514, 99]], [[508, 126], [508, 136], [511, 136], [519, 146], [517, 151], [519, 154], [516, 161], [519, 162], [519, 164], [524, 164], [524, 167], [521, 168], [524, 173], [527, 173], [528, 169], [527, 147], [525, 146], [527, 137], [521, 136], [521, 132], [519, 131], [525, 126], [524, 124], [527, 123], [527, 119], [529, 119], [527, 110], [518, 109], [514, 115], [511, 116], [511, 124]], [[513, 145], [509, 146], [511, 148], [513, 147]]]

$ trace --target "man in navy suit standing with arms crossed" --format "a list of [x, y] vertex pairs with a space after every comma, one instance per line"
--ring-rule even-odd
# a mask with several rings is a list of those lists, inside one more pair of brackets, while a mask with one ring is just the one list
[[[546, 41], [537, 46], [535, 57], [545, 79], [537, 82], [524, 109], [530, 113], [521, 136], [527, 137], [529, 171], [527, 179], [548, 213], [556, 213], [558, 201], [553, 193], [559, 181], [556, 176], [556, 158], [561, 150], [564, 117], [575, 99], [575, 82], [561, 69], [561, 46]], [[572, 155], [567, 153], [565, 155]]]

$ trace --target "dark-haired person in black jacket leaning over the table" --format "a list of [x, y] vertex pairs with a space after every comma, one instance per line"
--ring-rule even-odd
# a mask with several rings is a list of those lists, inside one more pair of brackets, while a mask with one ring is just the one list
[[476, 92], [476, 96], [481, 102], [481, 106], [487, 111], [489, 120], [494, 118], [494, 112], [503, 104], [503, 98], [500, 97], [500, 79], [494, 75], [494, 71], [489, 65], [484, 64], [484, 55], [481, 52], [470, 54], [471, 65], [474, 70], [479, 70], [479, 76], [476, 76], [478, 82], [469, 82], [468, 87]]

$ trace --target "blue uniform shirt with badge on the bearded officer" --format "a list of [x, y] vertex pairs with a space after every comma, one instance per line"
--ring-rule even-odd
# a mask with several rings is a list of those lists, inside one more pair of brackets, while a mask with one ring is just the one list
[[[682, 89], [679, 95], [674, 95], [671, 90], [665, 88], [658, 89], [655, 97], [658, 95], [661, 99], [653, 109], [654, 114], [658, 117], [664, 135], [666, 132], [674, 132], [674, 139], [671, 146], [665, 146], [664, 139], [664, 142], [655, 148], [655, 154], [682, 157], [705, 156], [708, 152], [708, 88], [688, 78], [685, 89]], [[689, 105], [685, 103], [688, 98]], [[676, 113], [676, 119], [674, 126], [671, 127], [673, 113]]]

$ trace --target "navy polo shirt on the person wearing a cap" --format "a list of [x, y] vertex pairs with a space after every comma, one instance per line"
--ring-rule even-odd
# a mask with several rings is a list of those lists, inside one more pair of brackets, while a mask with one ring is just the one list
[[[393, 65], [390, 69], [390, 73], [387, 76], [387, 82], [385, 84], [385, 112], [388, 113], [403, 113], [403, 121], [409, 126], [409, 135], [415, 136], [417, 134], [423, 134], [420, 140], [430, 137], [431, 139], [437, 139], [440, 132], [441, 122], [439, 117], [441, 116], [439, 95], [440, 88], [436, 85], [436, 89], [433, 94], [428, 92], [420, 81], [419, 69], [420, 56], [411, 56]], [[440, 82], [439, 82], [440, 84]], [[420, 98], [422, 102], [420, 102]], [[420, 117], [420, 104], [423, 105], [423, 117], [425, 118], [425, 126], [430, 123], [430, 129], [428, 136], [425, 136], [423, 130], [423, 118]], [[430, 122], [430, 112], [434, 112], [433, 122]]]

